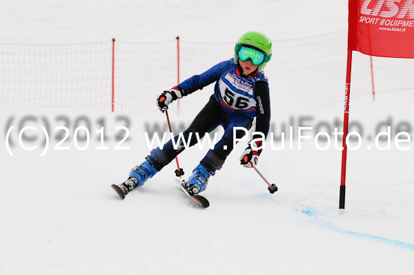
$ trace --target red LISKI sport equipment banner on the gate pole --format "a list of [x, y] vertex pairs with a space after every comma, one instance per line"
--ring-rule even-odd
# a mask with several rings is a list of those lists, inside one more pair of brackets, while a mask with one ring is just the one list
[[414, 58], [414, 0], [349, 0], [348, 50]]

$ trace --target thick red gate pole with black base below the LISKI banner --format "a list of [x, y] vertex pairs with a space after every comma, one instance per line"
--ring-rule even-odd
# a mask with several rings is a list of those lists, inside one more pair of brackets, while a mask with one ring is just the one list
[[344, 103], [344, 136], [342, 139], [342, 171], [341, 187], [339, 190], [339, 214], [345, 214], [345, 175], [346, 175], [346, 136], [348, 135], [349, 120], [349, 95], [351, 90], [351, 65], [352, 50], [348, 50], [348, 59], [346, 61], [346, 83], [345, 83], [345, 103]]

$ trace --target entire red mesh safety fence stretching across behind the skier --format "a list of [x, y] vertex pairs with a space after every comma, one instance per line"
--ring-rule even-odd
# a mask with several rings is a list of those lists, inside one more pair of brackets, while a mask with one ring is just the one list
[[[306, 110], [344, 101], [346, 30], [273, 40], [265, 68], [273, 108]], [[179, 41], [179, 81], [233, 57], [235, 42]], [[115, 112], [156, 113], [177, 85], [177, 40], [115, 41]], [[375, 93], [414, 90], [414, 61], [373, 57]], [[179, 101], [198, 112], [213, 85]], [[370, 57], [355, 52], [351, 97], [371, 94]], [[202, 103], [200, 103], [202, 102]], [[0, 43], [0, 106], [104, 110], [112, 105], [112, 41], [65, 45]], [[171, 107], [176, 110], [177, 104]]]

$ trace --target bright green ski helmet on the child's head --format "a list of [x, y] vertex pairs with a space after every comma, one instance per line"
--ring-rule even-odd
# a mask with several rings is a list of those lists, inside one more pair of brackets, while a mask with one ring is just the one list
[[272, 57], [272, 41], [262, 34], [262, 32], [246, 32], [239, 38], [235, 46], [235, 64], [239, 64], [239, 50], [242, 46], [253, 48], [264, 53], [264, 61], [257, 67], [258, 72], [262, 72], [270, 57]]

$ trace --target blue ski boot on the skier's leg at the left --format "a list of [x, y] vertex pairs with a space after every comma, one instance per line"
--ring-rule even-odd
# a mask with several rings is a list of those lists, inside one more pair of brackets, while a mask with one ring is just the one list
[[129, 178], [124, 183], [121, 183], [120, 185], [113, 184], [112, 188], [122, 199], [124, 199], [135, 187], [144, 185], [144, 183], [157, 174], [157, 172], [157, 169], [151, 165], [147, 157], [146, 161], [141, 163], [141, 165], [132, 168]]

